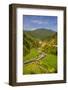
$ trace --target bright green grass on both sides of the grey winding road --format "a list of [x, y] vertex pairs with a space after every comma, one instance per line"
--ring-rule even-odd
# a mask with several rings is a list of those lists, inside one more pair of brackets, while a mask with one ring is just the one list
[[[37, 49], [33, 48], [30, 53], [24, 57], [24, 61], [29, 61], [32, 58], [36, 58], [39, 55]], [[47, 54], [38, 63], [32, 62], [24, 64], [23, 74], [42, 74], [42, 73], [55, 73], [57, 72], [57, 56], [53, 54]]]

